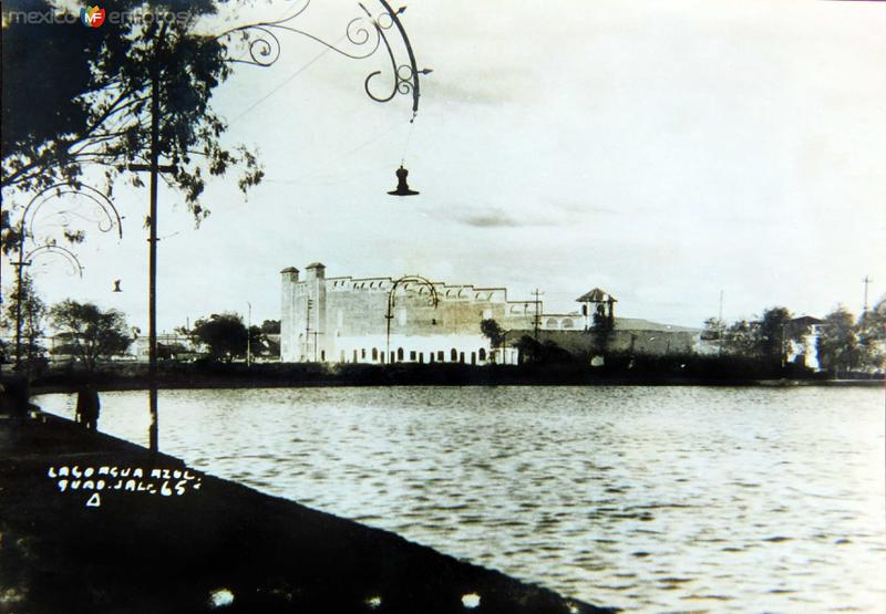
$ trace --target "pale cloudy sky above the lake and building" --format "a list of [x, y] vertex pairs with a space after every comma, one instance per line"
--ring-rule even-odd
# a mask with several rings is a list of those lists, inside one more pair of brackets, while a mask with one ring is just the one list
[[[313, 0], [298, 27], [336, 42], [359, 14]], [[401, 18], [433, 69], [412, 124], [411, 97], [363, 92], [385, 58], [293, 32], [274, 66], [238, 64], [216, 91], [226, 142], [255, 147], [266, 178], [246, 199], [234, 177], [212, 183], [199, 228], [161, 189], [161, 330], [279, 319], [279, 271], [315, 261], [514, 300], [538, 289], [556, 313], [599, 287], [617, 315], [689, 326], [721, 292], [728, 321], [858, 313], [865, 275], [872, 303], [886, 294], [886, 4], [414, 0]], [[385, 194], [401, 160], [419, 196]], [[115, 204], [123, 239], [90, 235], [82, 279], [49, 263], [34, 279], [49, 302], [91, 300], [146, 330], [148, 191], [121, 186]]]

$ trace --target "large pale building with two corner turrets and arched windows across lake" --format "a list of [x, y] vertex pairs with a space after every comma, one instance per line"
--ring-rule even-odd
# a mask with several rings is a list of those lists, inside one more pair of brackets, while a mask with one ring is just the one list
[[[513, 342], [536, 329], [539, 341], [587, 352], [595, 339], [587, 332], [594, 315], [612, 318], [616, 302], [594, 289], [577, 299], [580, 311], [547, 314], [535, 299], [509, 300], [505, 288], [449, 284], [420, 275], [327, 278], [319, 262], [309, 264], [303, 277], [295, 267], [280, 273], [284, 362], [484, 364], [495, 353], [496, 362], [514, 364]], [[495, 320], [506, 332], [504, 347], [491, 347], [481, 332], [483, 320]], [[614, 321], [608, 343], [622, 351], [691, 351], [696, 335], [690, 329], [671, 331], [640, 320]]]

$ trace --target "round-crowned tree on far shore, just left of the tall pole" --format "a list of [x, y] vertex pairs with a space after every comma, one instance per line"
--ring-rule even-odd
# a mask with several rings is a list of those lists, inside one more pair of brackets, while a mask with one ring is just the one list
[[65, 348], [90, 372], [100, 360], [123, 354], [132, 343], [126, 318], [115, 309], [102, 311], [93, 303], [69, 299], [52, 305], [49, 314], [52, 326], [66, 342]]

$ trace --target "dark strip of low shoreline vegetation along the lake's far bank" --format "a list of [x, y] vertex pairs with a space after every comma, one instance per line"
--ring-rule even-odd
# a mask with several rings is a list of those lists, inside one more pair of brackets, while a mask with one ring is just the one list
[[[787, 365], [704, 356], [608, 360], [599, 367], [578, 363], [472, 366], [453, 363], [371, 365], [319, 363], [161, 364], [161, 388], [239, 388], [398, 385], [879, 385], [883, 376], [832, 375]], [[69, 391], [90, 382], [101, 389], [147, 387], [147, 365], [110, 363], [95, 373], [53, 367], [31, 379], [34, 392]]]

